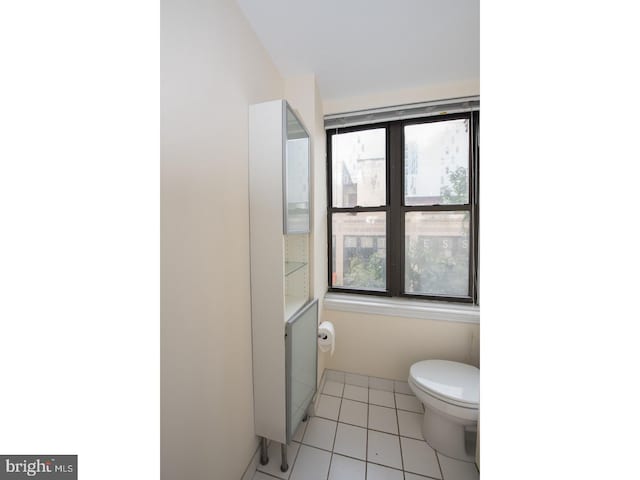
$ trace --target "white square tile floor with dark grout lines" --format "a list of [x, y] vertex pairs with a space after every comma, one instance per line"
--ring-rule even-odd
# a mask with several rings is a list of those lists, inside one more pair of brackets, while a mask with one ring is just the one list
[[474, 463], [422, 439], [422, 413], [406, 382], [327, 370], [316, 415], [289, 445], [289, 470], [273, 442], [253, 480], [478, 480]]

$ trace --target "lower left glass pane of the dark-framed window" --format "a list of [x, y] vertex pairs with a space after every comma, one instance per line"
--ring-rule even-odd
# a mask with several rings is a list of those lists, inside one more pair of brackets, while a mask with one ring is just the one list
[[334, 213], [335, 238], [331, 285], [361, 290], [387, 288], [387, 214], [385, 212]]

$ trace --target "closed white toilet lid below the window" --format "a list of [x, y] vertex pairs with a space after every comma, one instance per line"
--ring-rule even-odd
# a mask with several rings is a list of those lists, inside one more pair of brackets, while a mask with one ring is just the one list
[[480, 370], [448, 360], [424, 360], [411, 366], [411, 379], [424, 391], [445, 401], [477, 406]]

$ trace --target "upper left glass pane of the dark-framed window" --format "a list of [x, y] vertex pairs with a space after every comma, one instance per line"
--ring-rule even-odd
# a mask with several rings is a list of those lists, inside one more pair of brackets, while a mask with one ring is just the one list
[[386, 205], [386, 151], [384, 128], [331, 137], [334, 207]]

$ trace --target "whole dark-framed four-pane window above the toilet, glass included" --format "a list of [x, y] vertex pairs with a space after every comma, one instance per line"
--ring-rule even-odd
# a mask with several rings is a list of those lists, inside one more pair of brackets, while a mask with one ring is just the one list
[[330, 291], [478, 303], [479, 122], [327, 130]]

